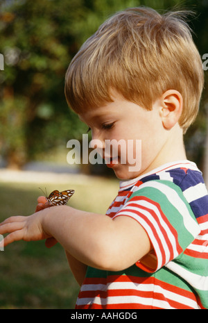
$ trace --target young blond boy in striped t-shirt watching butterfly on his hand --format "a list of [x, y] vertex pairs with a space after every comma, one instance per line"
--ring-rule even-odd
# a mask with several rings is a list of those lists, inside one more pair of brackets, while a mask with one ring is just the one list
[[[71, 61], [67, 101], [122, 180], [119, 194], [106, 215], [40, 197], [38, 212], [10, 217], [0, 233], [5, 246], [60, 242], [82, 285], [76, 308], [208, 308], [208, 195], [183, 143], [202, 87], [181, 13], [116, 13]], [[121, 163], [120, 148], [105, 155], [106, 140], [121, 139], [141, 140], [141, 167]]]

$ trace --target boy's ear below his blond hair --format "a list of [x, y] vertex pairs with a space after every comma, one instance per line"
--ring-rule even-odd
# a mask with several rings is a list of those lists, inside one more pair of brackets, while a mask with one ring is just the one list
[[160, 106], [160, 117], [165, 129], [171, 130], [177, 124], [182, 114], [183, 99], [180, 92], [167, 90], [162, 94]]

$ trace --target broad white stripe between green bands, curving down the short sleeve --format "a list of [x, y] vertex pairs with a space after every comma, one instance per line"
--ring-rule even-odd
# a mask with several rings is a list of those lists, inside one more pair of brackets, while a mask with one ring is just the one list
[[156, 188], [157, 190], [160, 190], [168, 199], [168, 201], [171, 202], [171, 204], [178, 210], [180, 215], [183, 217], [184, 226], [193, 235], [194, 238], [200, 233], [200, 227], [198, 223], [191, 217], [189, 210], [180, 198], [180, 196], [177, 194], [177, 192], [170, 188], [168, 185], [165, 185], [163, 183], [159, 183], [157, 181], [150, 181], [148, 183], [141, 184], [141, 188]]

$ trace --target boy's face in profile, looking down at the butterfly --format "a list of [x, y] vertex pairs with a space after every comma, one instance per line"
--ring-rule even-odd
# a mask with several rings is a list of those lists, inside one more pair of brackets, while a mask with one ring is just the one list
[[166, 132], [159, 101], [146, 110], [118, 94], [113, 102], [79, 115], [92, 131], [92, 144], [119, 179], [134, 179], [162, 165]]

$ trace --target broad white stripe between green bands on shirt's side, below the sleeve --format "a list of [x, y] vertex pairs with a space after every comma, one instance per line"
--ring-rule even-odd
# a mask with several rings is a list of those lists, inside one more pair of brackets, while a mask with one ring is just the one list
[[[170, 261], [170, 263], [166, 264], [168, 269], [172, 270], [179, 276], [181, 276], [185, 281], [187, 281], [193, 288], [198, 290], [208, 290], [208, 276], [200, 276], [198, 274], [193, 274], [193, 272], [189, 272], [189, 270], [184, 269], [177, 263]], [[208, 267], [207, 267], [208, 272]]]

